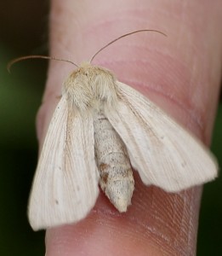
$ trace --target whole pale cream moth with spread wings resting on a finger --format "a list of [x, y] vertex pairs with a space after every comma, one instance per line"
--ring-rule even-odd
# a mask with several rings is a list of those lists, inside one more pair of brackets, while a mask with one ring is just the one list
[[[130, 33], [131, 34], [131, 33]], [[100, 188], [119, 212], [134, 192], [133, 169], [167, 192], [217, 176], [208, 149], [111, 71], [84, 62], [65, 80], [48, 126], [28, 207], [33, 230], [75, 223]]]

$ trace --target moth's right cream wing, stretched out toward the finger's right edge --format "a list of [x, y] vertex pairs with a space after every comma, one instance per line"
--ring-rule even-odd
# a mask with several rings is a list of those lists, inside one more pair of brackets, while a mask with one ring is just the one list
[[106, 106], [105, 115], [145, 184], [176, 192], [217, 176], [217, 162], [208, 149], [154, 103], [120, 82], [117, 96], [117, 106]]

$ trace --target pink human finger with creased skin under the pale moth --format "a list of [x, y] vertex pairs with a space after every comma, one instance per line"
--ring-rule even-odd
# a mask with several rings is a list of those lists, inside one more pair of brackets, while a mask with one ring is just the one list
[[[210, 143], [221, 76], [221, 1], [52, 0], [50, 55], [88, 61], [114, 38], [156, 29], [112, 44], [94, 64], [156, 102], [206, 144]], [[61, 85], [75, 67], [51, 61], [37, 117], [40, 145]], [[46, 255], [195, 255], [202, 188], [168, 194], [146, 187], [134, 172], [128, 212], [119, 213], [100, 193], [77, 224], [47, 230]]]

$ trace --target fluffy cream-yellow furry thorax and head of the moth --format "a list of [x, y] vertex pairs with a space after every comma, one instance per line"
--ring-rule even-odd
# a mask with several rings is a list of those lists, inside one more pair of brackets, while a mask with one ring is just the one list
[[109, 70], [83, 62], [65, 80], [62, 94], [65, 94], [80, 111], [98, 108], [98, 104], [103, 103], [114, 107], [117, 102], [115, 82], [116, 78]]

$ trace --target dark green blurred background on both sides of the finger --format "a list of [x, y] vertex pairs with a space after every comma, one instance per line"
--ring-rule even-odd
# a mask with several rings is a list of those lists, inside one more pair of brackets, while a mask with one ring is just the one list
[[[7, 62], [47, 54], [48, 1], [0, 2], [0, 255], [44, 255], [44, 232], [33, 232], [26, 205], [37, 165], [35, 119], [47, 61], [24, 61], [7, 73]], [[213, 153], [222, 166], [222, 104], [213, 132]], [[222, 255], [222, 177], [204, 187], [197, 255]]]

